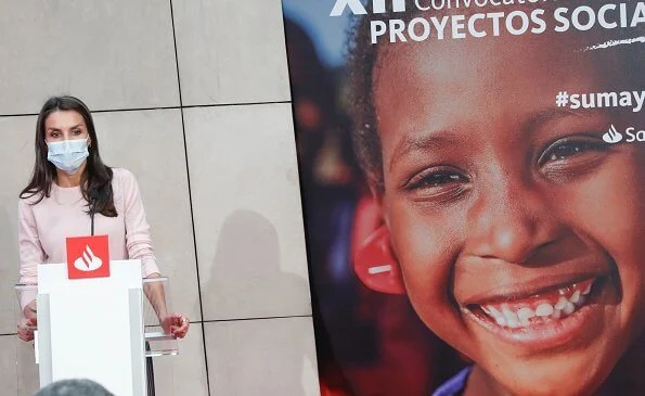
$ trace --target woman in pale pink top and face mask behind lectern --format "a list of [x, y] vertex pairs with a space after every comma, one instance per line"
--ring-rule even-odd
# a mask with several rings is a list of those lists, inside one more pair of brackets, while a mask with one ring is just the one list
[[[159, 277], [137, 179], [106, 166], [90, 110], [74, 97], [53, 97], [36, 125], [36, 162], [18, 201], [20, 283], [37, 284], [39, 264], [65, 263], [67, 237], [107, 234], [109, 257], [140, 259], [143, 278]], [[184, 337], [190, 321], [165, 310], [163, 289], [145, 288], [167, 333]], [[36, 294], [21, 296], [18, 337], [34, 338]]]

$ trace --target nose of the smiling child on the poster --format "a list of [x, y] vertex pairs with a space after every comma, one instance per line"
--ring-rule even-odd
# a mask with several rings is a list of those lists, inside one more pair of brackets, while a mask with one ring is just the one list
[[549, 200], [529, 189], [495, 189], [476, 201], [469, 220], [469, 255], [506, 263], [530, 264], [565, 234]]

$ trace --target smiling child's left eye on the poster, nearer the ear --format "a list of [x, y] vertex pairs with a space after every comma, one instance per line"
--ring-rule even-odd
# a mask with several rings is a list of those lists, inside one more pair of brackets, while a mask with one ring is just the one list
[[440, 197], [444, 194], [453, 195], [463, 191], [468, 178], [463, 173], [452, 168], [426, 169], [405, 183], [405, 190], [428, 197]]

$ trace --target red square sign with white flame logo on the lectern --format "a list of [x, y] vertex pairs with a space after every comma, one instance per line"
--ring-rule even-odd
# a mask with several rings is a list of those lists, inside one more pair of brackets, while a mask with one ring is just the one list
[[67, 238], [67, 277], [109, 277], [107, 235]]

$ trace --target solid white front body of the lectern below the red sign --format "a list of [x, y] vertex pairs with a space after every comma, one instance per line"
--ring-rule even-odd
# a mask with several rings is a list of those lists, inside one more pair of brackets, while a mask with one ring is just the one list
[[109, 277], [69, 279], [66, 264], [38, 266], [40, 386], [85, 378], [119, 396], [145, 396], [139, 260], [113, 260]]

